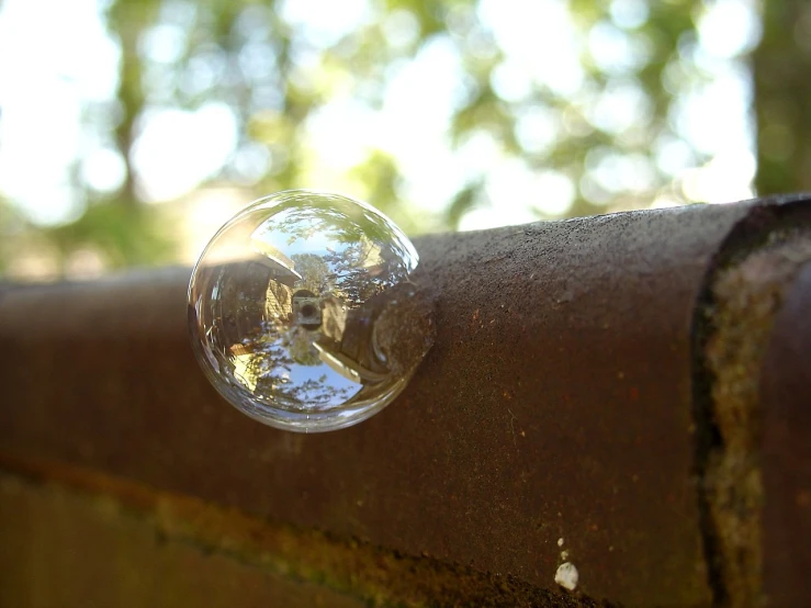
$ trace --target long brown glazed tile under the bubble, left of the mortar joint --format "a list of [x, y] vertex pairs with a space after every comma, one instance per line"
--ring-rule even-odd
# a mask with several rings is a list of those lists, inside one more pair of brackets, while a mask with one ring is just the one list
[[[188, 345], [185, 269], [5, 291], [0, 459], [65, 483], [66, 465], [132, 480], [541, 589], [556, 589], [565, 559], [585, 596], [728, 601], [750, 571], [724, 568], [713, 502], [726, 453], [718, 369], [705, 360], [725, 302], [713, 289], [787, 224], [807, 234], [809, 209], [795, 196], [418, 239], [437, 299], [432, 351], [386, 410], [316, 436], [262, 427], [207, 385]], [[753, 361], [795, 275], [775, 279]], [[785, 463], [768, 462], [779, 477]]]

